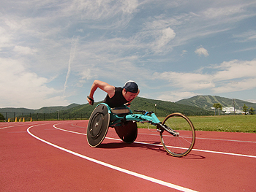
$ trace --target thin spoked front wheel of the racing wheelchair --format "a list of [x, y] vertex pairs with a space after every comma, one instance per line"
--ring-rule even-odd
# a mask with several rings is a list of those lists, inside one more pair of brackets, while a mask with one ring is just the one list
[[170, 133], [164, 130], [160, 132], [167, 153], [175, 157], [187, 155], [195, 144], [195, 128], [189, 118], [176, 112], [167, 115], [162, 125], [170, 130]]

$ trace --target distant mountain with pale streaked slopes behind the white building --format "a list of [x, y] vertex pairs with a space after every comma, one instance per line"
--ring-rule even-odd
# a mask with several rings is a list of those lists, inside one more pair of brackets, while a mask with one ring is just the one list
[[246, 104], [247, 107], [253, 107], [256, 109], [256, 104], [248, 101], [242, 101], [239, 99], [228, 99], [221, 96], [193, 96], [189, 99], [181, 99], [180, 101], [176, 101], [176, 104], [186, 104], [193, 107], [200, 107], [204, 110], [211, 110], [214, 103], [222, 104], [222, 107], [234, 107], [239, 109], [239, 107], [243, 107]]

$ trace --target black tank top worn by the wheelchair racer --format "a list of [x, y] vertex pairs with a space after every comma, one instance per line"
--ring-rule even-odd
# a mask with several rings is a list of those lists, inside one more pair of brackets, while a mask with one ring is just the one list
[[124, 99], [123, 88], [116, 88], [115, 95], [110, 98], [108, 95], [105, 97], [103, 103], [108, 104], [109, 107], [120, 107], [123, 104], [126, 104], [128, 101]]

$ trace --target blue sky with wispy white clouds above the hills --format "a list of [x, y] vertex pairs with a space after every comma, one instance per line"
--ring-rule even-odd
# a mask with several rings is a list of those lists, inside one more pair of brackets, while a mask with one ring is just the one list
[[256, 1], [0, 1], [0, 108], [86, 104], [94, 80], [256, 102]]

